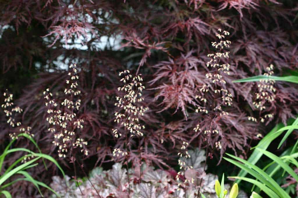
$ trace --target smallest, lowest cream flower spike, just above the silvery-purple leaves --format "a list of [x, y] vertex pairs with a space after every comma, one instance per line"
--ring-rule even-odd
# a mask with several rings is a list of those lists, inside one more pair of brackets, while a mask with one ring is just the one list
[[[181, 187], [185, 186], [185, 190], [186, 190], [186, 185], [187, 183], [194, 183], [194, 178], [191, 177], [190, 179], [187, 179], [185, 177], [185, 172], [187, 170], [190, 170], [190, 169], [193, 169], [193, 166], [188, 166], [185, 162], [185, 159], [187, 158], [190, 158], [190, 154], [188, 153], [188, 151], [186, 150], [186, 147], [187, 147], [188, 143], [183, 141], [182, 142], [182, 146], [181, 146], [181, 153], [178, 153], [178, 156], [180, 157], [178, 159], [178, 164], [180, 166], [180, 170], [177, 175], [176, 175], [176, 180], [178, 181], [178, 188], [177, 188], [177, 191], [179, 191], [181, 189]], [[184, 176], [184, 184], [180, 181], [180, 177], [181, 176]]]

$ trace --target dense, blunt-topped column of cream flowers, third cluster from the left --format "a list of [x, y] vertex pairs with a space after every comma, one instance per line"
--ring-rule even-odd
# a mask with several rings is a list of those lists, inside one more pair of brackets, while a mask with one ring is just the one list
[[[142, 77], [133, 76], [130, 74], [129, 70], [125, 70], [119, 73], [121, 82], [124, 83], [123, 87], [119, 87], [118, 91], [124, 92], [123, 97], [116, 97], [117, 103], [115, 106], [119, 107], [119, 112], [115, 112], [114, 122], [119, 123], [125, 127], [125, 131], [130, 133], [131, 137], [138, 135], [143, 136], [142, 129], [145, 129], [144, 125], [139, 124], [139, 117], [144, 115], [144, 112], [148, 110], [148, 107], [143, 107], [136, 102], [142, 102], [142, 90], [145, 87], [142, 84]], [[112, 132], [116, 138], [122, 136], [117, 129], [112, 129]], [[125, 134], [128, 135], [128, 134]]]

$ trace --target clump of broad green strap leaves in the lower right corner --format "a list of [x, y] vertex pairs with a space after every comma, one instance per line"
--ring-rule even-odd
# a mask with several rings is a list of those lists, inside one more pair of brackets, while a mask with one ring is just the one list
[[[298, 129], [298, 118], [293, 122], [292, 125], [282, 127], [281, 124], [274, 127], [274, 129], [268, 133], [256, 146], [254, 152], [252, 153], [251, 157], [246, 161], [241, 158], [238, 158], [234, 155], [227, 154], [229, 157], [233, 158], [226, 158], [225, 160], [229, 161], [230, 163], [234, 164], [241, 168], [240, 173], [237, 177], [231, 177], [238, 179], [238, 183], [240, 180], [247, 181], [249, 183], [254, 184], [255, 186], [259, 187], [261, 191], [264, 191], [269, 197], [290, 197], [289, 192], [285, 191], [280, 185], [272, 178], [275, 173], [281, 168], [291, 175], [295, 180], [298, 181], [298, 175], [294, 172], [289, 164], [293, 164], [298, 167], [298, 162], [295, 158], [298, 157], [298, 152], [296, 150], [298, 141], [296, 142], [295, 146], [292, 149], [289, 149], [288, 152], [285, 152], [282, 156], [274, 155], [271, 152], [268, 152], [266, 149], [269, 144], [277, 138], [283, 131], [288, 130], [286, 135], [281, 140], [278, 147], [285, 141], [285, 139], [291, 134], [294, 129]], [[260, 169], [256, 165], [254, 165], [262, 155], [266, 155], [268, 158], [272, 160], [270, 164], [265, 166], [264, 169]], [[235, 160], [234, 160], [235, 159]], [[241, 163], [239, 163], [239, 162]], [[270, 170], [270, 171], [268, 171]], [[251, 179], [245, 177], [245, 175], [249, 173], [256, 179]], [[252, 194], [253, 197], [260, 197], [257, 193]]]

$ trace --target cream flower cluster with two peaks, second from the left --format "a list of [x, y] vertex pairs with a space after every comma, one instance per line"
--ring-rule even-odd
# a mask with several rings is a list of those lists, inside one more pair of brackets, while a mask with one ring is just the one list
[[[76, 139], [76, 129], [83, 128], [83, 119], [76, 119], [75, 110], [79, 110], [81, 100], [77, 99], [80, 95], [80, 90], [76, 90], [78, 86], [77, 80], [77, 68], [76, 65], [70, 65], [72, 72], [68, 73], [69, 80], [66, 80], [66, 84], [69, 86], [64, 90], [64, 93], [67, 98], [61, 103], [61, 107], [65, 107], [67, 110], [61, 111], [56, 109], [58, 104], [52, 99], [53, 94], [49, 92], [49, 88], [44, 91], [44, 98], [47, 100], [45, 105], [49, 107], [47, 113], [49, 116], [46, 120], [49, 122], [50, 127], [48, 128], [49, 132], [55, 133], [55, 140], [52, 142], [58, 147], [59, 157], [66, 157], [69, 148], [79, 147], [80, 151], [84, 155], [88, 155], [88, 150], [85, 149], [87, 142], [83, 139]], [[70, 113], [69, 113], [70, 112]]]

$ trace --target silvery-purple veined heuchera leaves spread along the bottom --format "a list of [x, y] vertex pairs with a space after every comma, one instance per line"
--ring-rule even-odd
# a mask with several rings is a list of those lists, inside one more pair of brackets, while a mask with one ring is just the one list
[[[195, 175], [198, 175], [199, 171], [203, 170], [202, 162], [205, 160], [204, 150], [189, 150], [191, 158], [186, 160], [186, 164], [193, 164], [195, 169]], [[195, 165], [194, 165], [195, 164]], [[185, 173], [184, 177], [180, 177], [181, 180], [185, 180], [189, 177], [193, 177], [193, 169], [190, 172]], [[131, 197], [133, 198], [178, 198], [184, 197], [185, 191], [183, 187], [179, 187], [176, 181], [177, 173], [175, 171], [166, 171], [162, 169], [155, 169], [153, 167], [142, 165], [141, 182], [138, 182], [139, 175], [136, 174], [134, 169], [128, 170], [131, 183]], [[89, 179], [93, 183], [94, 187], [99, 192], [99, 195], [103, 198], [110, 197], [128, 197], [128, 182], [127, 182], [127, 170], [122, 168], [122, 164], [115, 163], [110, 170], [103, 170], [100, 167], [93, 169], [89, 174]], [[204, 174], [201, 192], [206, 197], [216, 198], [216, 191], [214, 189], [215, 181], [218, 179], [216, 175]], [[97, 197], [97, 193], [91, 186], [90, 181], [85, 178], [81, 179], [80, 188], [84, 195], [81, 194], [75, 181], [70, 180], [70, 177], [66, 176], [67, 182], [58, 176], [53, 177], [51, 187], [57, 191], [62, 197], [78, 198], [78, 197]], [[187, 198], [197, 197], [198, 186], [192, 183], [187, 183]], [[69, 186], [69, 188], [67, 187]], [[225, 185], [224, 188], [229, 188], [229, 185]], [[179, 191], [177, 189], [180, 188]], [[240, 191], [242, 198], [247, 196]], [[55, 197], [55, 194], [52, 195]]]

